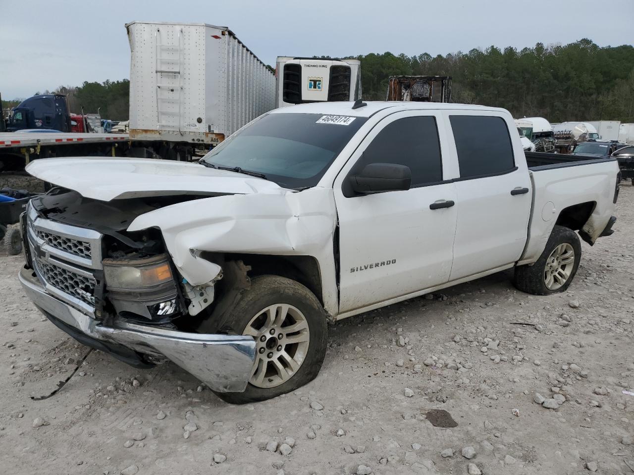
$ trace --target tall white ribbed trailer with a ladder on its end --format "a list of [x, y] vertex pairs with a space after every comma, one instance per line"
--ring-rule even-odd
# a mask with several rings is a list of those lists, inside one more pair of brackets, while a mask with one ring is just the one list
[[162, 158], [208, 151], [275, 108], [275, 73], [227, 27], [131, 22], [131, 140]]

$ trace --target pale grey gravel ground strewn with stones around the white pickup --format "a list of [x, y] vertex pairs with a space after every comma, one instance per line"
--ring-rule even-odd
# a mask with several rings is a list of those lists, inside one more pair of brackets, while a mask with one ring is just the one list
[[632, 474], [633, 203], [624, 184], [615, 234], [583, 244], [567, 293], [526, 295], [504, 272], [343, 320], [316, 380], [244, 406], [99, 352], [30, 400], [86, 348], [2, 255], [0, 460], [13, 475]]

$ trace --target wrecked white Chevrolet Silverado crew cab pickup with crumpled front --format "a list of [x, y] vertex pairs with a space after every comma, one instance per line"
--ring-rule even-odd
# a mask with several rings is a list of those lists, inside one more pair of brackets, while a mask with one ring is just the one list
[[264, 400], [318, 374], [328, 320], [511, 267], [564, 291], [619, 184], [569, 160], [525, 154], [506, 110], [361, 101], [271, 111], [200, 163], [36, 160], [55, 187], [23, 214], [20, 281], [88, 346]]

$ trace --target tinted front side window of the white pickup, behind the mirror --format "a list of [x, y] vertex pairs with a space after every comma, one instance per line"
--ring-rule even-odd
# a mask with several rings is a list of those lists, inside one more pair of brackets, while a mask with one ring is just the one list
[[411, 187], [443, 181], [438, 128], [434, 117], [406, 117], [378, 132], [354, 165], [352, 175], [369, 163], [396, 163], [411, 170]]

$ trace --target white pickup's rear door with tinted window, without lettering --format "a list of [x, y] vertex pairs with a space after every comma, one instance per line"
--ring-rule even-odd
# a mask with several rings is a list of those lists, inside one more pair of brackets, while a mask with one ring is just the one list
[[458, 162], [457, 224], [450, 280], [519, 259], [533, 189], [514, 124], [493, 111], [445, 111]]

